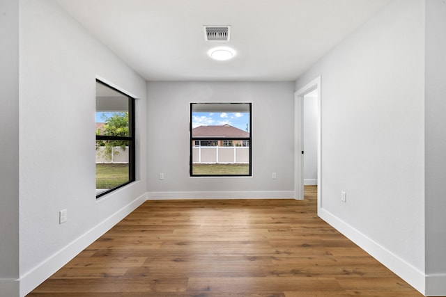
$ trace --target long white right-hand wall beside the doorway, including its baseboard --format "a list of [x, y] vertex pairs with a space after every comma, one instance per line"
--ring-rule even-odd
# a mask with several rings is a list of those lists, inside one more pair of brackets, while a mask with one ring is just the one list
[[319, 215], [424, 291], [424, 1], [392, 1], [295, 89], [319, 75]]

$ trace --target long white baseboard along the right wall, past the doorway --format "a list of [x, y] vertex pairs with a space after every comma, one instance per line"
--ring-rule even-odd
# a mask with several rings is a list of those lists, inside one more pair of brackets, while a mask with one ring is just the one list
[[[365, 236], [351, 225], [348, 225], [343, 220], [340, 220], [336, 216], [330, 214], [330, 212], [326, 211], [325, 209], [319, 209], [318, 216], [325, 220], [325, 222], [332, 225], [332, 227], [334, 227], [336, 230], [344, 234], [348, 239], [356, 243], [357, 246], [360, 246], [360, 248], [368, 252], [381, 264], [396, 273], [400, 278], [408, 282], [408, 284], [417, 289], [417, 291], [424, 294], [426, 282], [425, 275], [422, 271], [408, 264], [403, 259], [390, 252], [390, 250], [380, 246], [378, 243], [369, 239], [369, 237]], [[442, 280], [444, 294], [445, 276], [443, 276]]]

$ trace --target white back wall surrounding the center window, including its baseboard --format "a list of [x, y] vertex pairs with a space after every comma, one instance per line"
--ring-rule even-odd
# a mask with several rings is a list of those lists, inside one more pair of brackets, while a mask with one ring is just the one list
[[[149, 82], [147, 92], [149, 198], [294, 197], [293, 82]], [[252, 102], [252, 177], [190, 177], [190, 102]]]

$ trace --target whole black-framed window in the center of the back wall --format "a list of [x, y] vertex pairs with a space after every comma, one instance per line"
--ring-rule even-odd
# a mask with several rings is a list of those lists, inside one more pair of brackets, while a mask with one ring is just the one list
[[190, 176], [252, 176], [251, 103], [190, 104]]

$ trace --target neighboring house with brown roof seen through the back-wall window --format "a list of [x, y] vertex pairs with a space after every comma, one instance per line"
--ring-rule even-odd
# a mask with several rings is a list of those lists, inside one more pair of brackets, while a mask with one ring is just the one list
[[[199, 126], [192, 129], [192, 137], [209, 138], [209, 140], [192, 141], [193, 146], [219, 146], [219, 147], [249, 147], [249, 141], [233, 138], [249, 138], [249, 132], [231, 125]], [[216, 140], [215, 138], [228, 138]]]

